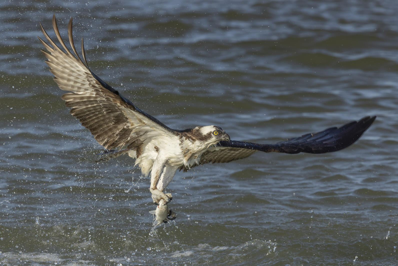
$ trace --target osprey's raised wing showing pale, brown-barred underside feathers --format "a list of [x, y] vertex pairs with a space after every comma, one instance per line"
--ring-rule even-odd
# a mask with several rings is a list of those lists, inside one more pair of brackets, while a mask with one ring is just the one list
[[51, 47], [39, 37], [41, 43], [49, 51], [48, 53], [41, 50], [48, 59], [45, 62], [49, 65], [60, 89], [70, 91], [70, 93], [62, 95], [62, 99], [66, 106], [72, 107], [70, 113], [90, 130], [94, 138], [105, 149], [115, 149], [126, 145], [129, 145], [129, 148], [134, 148], [146, 139], [159, 134], [174, 134], [176, 132], [137, 108], [131, 101], [90, 71], [84, 53], [83, 39], [82, 55], [86, 65], [74, 47], [72, 18], [68, 25], [68, 38], [74, 55], [62, 41], [55, 15], [53, 16], [54, 32], [66, 53], [54, 43], [41, 24], [40, 27], [47, 41], [53, 46]]

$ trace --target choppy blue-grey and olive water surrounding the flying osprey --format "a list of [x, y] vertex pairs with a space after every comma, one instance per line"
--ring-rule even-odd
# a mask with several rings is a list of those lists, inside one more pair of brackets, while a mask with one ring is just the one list
[[[397, 12], [395, 0], [2, 2], [0, 264], [396, 265]], [[94, 163], [101, 147], [43, 62], [38, 23], [53, 13], [62, 35], [74, 17], [94, 73], [172, 128], [272, 143], [378, 118], [340, 152], [177, 173], [178, 219], [150, 234], [149, 179], [130, 158]]]

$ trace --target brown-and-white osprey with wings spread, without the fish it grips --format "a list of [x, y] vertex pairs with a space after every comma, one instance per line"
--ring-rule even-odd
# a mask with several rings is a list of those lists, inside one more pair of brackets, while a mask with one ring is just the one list
[[135, 159], [142, 175], [150, 174], [150, 192], [157, 205], [162, 199], [166, 203], [171, 201], [172, 195], [163, 191], [178, 169], [187, 171], [201, 164], [231, 162], [257, 151], [287, 154], [334, 152], [353, 144], [376, 118], [367, 116], [339, 128], [328, 128], [276, 144], [230, 140], [219, 126], [172, 129], [140, 110], [89, 69], [83, 39], [84, 61], [76, 52], [72, 18], [68, 24], [68, 39], [74, 54], [62, 41], [55, 15], [52, 22], [55, 35], [65, 51], [54, 43], [41, 24], [41, 31], [52, 47], [39, 39], [48, 51], [41, 50], [48, 59], [45, 62], [55, 76], [54, 81], [60, 89], [69, 91], [61, 98], [66, 106], [72, 108], [70, 113], [105, 148], [102, 154], [106, 157], [98, 162], [128, 155]]

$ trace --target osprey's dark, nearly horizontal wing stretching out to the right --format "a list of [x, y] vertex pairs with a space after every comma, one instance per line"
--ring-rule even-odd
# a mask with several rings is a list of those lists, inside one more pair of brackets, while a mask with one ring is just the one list
[[[257, 151], [288, 154], [335, 152], [353, 144], [375, 119], [376, 116], [366, 116], [358, 122], [353, 121], [339, 128], [328, 128], [318, 133], [305, 134], [276, 144], [258, 144], [236, 140], [221, 141], [202, 154], [199, 164], [227, 163], [246, 158]], [[181, 167], [181, 169], [187, 170], [185, 167]]]

